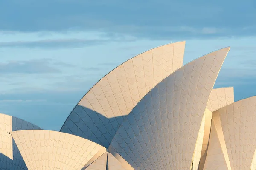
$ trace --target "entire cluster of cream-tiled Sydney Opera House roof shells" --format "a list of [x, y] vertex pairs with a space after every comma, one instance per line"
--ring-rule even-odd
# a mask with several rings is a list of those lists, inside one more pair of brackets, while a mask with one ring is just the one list
[[213, 89], [230, 47], [186, 65], [184, 50], [114, 68], [59, 132], [0, 114], [0, 170], [256, 170], [256, 96]]

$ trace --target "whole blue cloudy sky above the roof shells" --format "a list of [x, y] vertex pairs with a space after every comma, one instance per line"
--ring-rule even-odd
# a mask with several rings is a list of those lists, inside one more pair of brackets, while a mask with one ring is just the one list
[[256, 95], [256, 0], [0, 0], [0, 113], [60, 130], [122, 62], [186, 40], [184, 62], [230, 46], [215, 88]]

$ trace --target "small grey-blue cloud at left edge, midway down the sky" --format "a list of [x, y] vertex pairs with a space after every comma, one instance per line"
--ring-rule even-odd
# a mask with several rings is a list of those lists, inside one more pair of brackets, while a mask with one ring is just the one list
[[[65, 65], [58, 62], [60, 65]], [[34, 59], [23, 61], [9, 61], [0, 63], [0, 74], [24, 73], [24, 74], [42, 74], [42, 73], [60, 73], [61, 71], [51, 65], [51, 59]]]

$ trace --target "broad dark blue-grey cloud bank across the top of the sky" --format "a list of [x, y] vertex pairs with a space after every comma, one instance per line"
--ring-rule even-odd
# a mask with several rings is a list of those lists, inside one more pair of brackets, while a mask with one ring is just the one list
[[[94, 30], [152, 39], [256, 35], [256, 24], [253, 22], [256, 3], [253, 0], [245, 0], [244, 3], [239, 3], [238, 0], [232, 3], [221, 0], [29, 2], [31, 0], [26, 3], [18, 0], [5, 1], [2, 5], [6, 8], [0, 11], [0, 30]], [[15, 15], [9, 13], [9, 8], [15, 11]], [[44, 8], [47, 8], [47, 12]]]

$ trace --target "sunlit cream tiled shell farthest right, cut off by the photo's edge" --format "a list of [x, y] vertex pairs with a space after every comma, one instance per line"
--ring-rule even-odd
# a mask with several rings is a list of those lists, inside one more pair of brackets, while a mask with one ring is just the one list
[[256, 149], [256, 96], [220, 108], [212, 115], [225, 161], [230, 164], [228, 169], [249, 170]]

